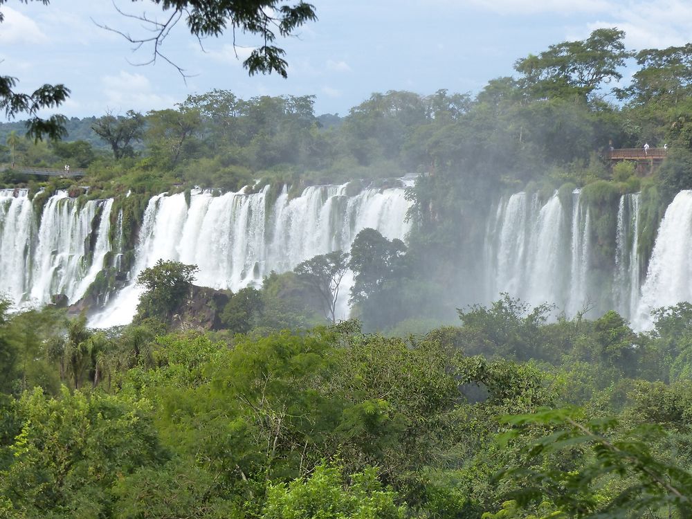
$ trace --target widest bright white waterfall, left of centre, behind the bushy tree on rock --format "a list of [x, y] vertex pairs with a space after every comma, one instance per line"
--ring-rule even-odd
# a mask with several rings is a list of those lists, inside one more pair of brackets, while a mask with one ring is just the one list
[[[176, 260], [199, 267], [197, 284], [237, 291], [260, 286], [271, 271], [289, 271], [314, 255], [347, 251], [364, 228], [389, 239], [408, 232], [409, 202], [401, 188], [366, 189], [349, 197], [346, 184], [321, 185], [290, 199], [284, 187], [274, 201], [270, 192], [269, 186], [221, 196], [194, 190], [189, 206], [182, 193], [156, 195], [145, 210], [131, 279], [159, 259]], [[347, 287], [341, 291], [347, 293]], [[140, 293], [132, 282], [91, 324], [129, 322]]]

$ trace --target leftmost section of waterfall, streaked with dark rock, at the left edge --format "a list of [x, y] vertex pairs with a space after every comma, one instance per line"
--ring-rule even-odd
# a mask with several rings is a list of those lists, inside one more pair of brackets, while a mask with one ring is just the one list
[[78, 300], [109, 251], [112, 203], [81, 205], [58, 191], [46, 201], [37, 226], [27, 190], [0, 190], [0, 291], [19, 307], [46, 304], [57, 294]]

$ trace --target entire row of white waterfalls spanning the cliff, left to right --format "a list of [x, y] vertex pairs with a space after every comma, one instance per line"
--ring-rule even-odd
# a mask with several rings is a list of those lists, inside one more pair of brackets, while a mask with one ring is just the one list
[[[639, 194], [623, 194], [617, 207], [591, 209], [579, 190], [571, 196], [518, 192], [498, 201], [486, 224], [485, 302], [507, 292], [531, 305], [556, 304], [567, 317], [592, 304], [589, 317], [614, 308], [636, 329], [646, 329], [653, 309], [692, 300], [692, 191], [680, 192], [668, 206], [641, 284]], [[107, 308], [91, 321], [109, 326], [131, 320], [140, 295], [134, 280], [159, 259], [197, 264], [196, 282], [203, 286], [260, 286], [271, 271], [349, 250], [363, 228], [403, 239], [410, 202], [403, 188], [352, 194], [347, 184], [310, 186], [294, 197], [286, 186], [219, 196], [210, 190], [157, 194], [145, 208], [127, 273], [125, 218], [122, 210], [111, 217], [112, 199], [83, 201], [58, 191], [44, 200], [40, 214], [36, 207], [26, 189], [0, 190], [0, 293], [19, 308], [46, 304], [55, 295], [73, 303], [102, 268], [114, 268], [128, 284], [104, 294], [110, 296]], [[611, 246], [597, 242], [610, 235]], [[342, 295], [351, 283], [346, 275]], [[340, 298], [342, 317], [346, 299]]]

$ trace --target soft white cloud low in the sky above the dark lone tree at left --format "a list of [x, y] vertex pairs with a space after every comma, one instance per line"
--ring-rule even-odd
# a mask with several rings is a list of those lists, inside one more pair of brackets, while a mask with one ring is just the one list
[[152, 90], [152, 84], [142, 74], [120, 71], [118, 75], [104, 75], [104, 102], [114, 113], [127, 110], [158, 110], [172, 108], [178, 101], [172, 95], [161, 95]]

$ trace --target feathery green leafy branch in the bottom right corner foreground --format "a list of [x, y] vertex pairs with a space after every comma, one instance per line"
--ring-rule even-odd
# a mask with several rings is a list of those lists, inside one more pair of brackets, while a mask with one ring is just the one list
[[665, 435], [659, 426], [640, 426], [616, 439], [617, 420], [582, 422], [574, 408], [501, 420], [513, 428], [498, 437], [500, 444], [536, 427], [549, 431], [529, 441], [522, 466], [496, 476], [516, 482], [511, 498], [520, 506], [549, 500], [568, 517], [590, 519], [657, 517], [661, 510], [666, 517], [692, 517], [692, 474], [651, 452]]

